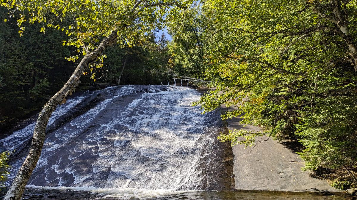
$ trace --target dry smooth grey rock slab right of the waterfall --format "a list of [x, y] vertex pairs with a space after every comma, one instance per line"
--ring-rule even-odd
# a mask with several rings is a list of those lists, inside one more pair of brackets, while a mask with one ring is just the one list
[[[227, 111], [225, 106], [221, 107], [223, 111]], [[240, 117], [227, 120], [228, 129], [260, 131], [259, 127], [252, 125], [243, 127], [240, 121]], [[327, 180], [317, 177], [312, 172], [302, 171], [304, 164], [296, 154], [297, 145], [267, 137], [258, 140], [261, 142], [254, 147], [245, 148], [239, 144], [233, 146], [236, 189], [344, 192], [332, 188]]]

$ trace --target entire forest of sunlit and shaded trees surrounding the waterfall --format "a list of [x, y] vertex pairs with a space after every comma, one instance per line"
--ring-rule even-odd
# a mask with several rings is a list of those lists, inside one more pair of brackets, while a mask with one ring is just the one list
[[43, 109], [54, 110], [79, 84], [67, 82], [72, 73], [79, 90], [167, 85], [175, 74], [212, 81], [195, 103], [203, 113], [238, 107], [222, 119], [241, 116], [263, 130], [220, 141], [297, 141], [303, 170], [339, 189], [357, 186], [356, 0], [34, 2], [1, 0], [2, 130], [47, 101]]

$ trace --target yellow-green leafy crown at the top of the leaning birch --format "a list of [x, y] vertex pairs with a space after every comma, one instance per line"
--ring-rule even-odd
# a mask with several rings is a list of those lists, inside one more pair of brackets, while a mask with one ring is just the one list
[[[102, 37], [114, 34], [111, 43], [132, 47], [138, 40], [145, 40], [148, 33], [161, 29], [167, 19], [177, 14], [176, 8], [186, 8], [189, 2], [170, 0], [150, 1], [6, 1], [1, 6], [9, 9], [9, 19], [17, 19], [19, 33], [25, 33], [26, 23], [41, 23], [40, 32], [48, 28], [63, 31], [68, 39], [62, 45], [74, 46], [78, 54], [67, 58], [75, 62], [81, 56], [94, 51]], [[69, 22], [61, 26], [60, 22]], [[101, 67], [97, 65], [96, 67]]]

